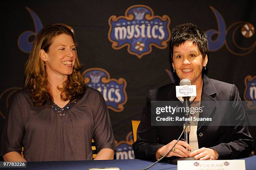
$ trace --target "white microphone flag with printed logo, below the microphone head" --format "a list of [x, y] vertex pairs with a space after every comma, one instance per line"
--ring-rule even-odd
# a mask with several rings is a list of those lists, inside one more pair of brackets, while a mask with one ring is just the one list
[[197, 87], [196, 85], [179, 85], [176, 86], [176, 97], [183, 102], [182, 97], [188, 97], [189, 101], [193, 101], [195, 97], [197, 96]]

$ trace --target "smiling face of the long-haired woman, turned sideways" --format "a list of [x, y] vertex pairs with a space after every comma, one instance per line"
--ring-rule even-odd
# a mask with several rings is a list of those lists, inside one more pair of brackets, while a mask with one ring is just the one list
[[49, 51], [41, 50], [41, 58], [46, 62], [47, 75], [71, 75], [77, 58], [72, 37], [67, 34], [54, 37]]

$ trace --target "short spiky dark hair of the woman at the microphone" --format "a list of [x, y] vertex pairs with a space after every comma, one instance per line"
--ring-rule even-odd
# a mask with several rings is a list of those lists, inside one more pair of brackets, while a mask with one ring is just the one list
[[192, 23], [180, 24], [172, 29], [172, 37], [170, 41], [171, 58], [173, 47], [178, 47], [185, 41], [191, 41], [193, 44], [197, 45], [202, 53], [202, 57], [205, 58], [205, 55], [207, 55], [208, 52], [207, 36], [203, 30]]

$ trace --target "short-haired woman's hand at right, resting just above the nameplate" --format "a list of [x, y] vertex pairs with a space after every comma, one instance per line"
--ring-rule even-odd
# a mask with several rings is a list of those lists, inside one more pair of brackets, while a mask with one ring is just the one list
[[[195, 157], [194, 157], [195, 156]], [[189, 157], [194, 157], [199, 160], [217, 160], [217, 153], [210, 148], [200, 148], [190, 153]]]

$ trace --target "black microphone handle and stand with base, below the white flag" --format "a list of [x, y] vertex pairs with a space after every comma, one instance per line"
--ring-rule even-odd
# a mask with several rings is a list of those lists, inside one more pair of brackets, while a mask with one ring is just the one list
[[[184, 105], [184, 108], [185, 108], [185, 117], [189, 118], [189, 115], [190, 115], [190, 102], [189, 102], [189, 97], [183, 97], [184, 101], [183, 101], [183, 105]], [[187, 107], [189, 107], [189, 111], [187, 112]], [[185, 130], [184, 130], [185, 129]], [[187, 126], [186, 126], [186, 123], [183, 123], [183, 130], [184, 130], [184, 141], [187, 142], [189, 144], [189, 133], [190, 133], [190, 122], [188, 121], [187, 122]], [[186, 148], [187, 149], [187, 148]], [[188, 150], [188, 149], [187, 149]], [[192, 157], [184, 157], [184, 158], [175, 158], [175, 159], [172, 159], [170, 160], [170, 163], [171, 164], [174, 164], [174, 165], [177, 165], [178, 163], [178, 160], [195, 160], [194, 158]]]

